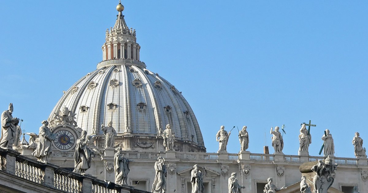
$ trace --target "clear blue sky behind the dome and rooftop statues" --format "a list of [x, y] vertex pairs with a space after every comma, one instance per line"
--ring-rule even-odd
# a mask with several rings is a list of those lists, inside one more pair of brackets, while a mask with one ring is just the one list
[[[0, 1], [0, 110], [14, 103], [27, 132], [102, 60], [118, 1]], [[312, 120], [309, 153], [330, 129], [335, 156], [367, 142], [367, 1], [123, 1], [141, 60], [183, 92], [208, 152], [220, 125], [248, 126], [250, 150], [286, 125], [284, 153], [297, 155], [301, 122]], [[266, 137], [265, 137], [266, 131]], [[237, 153], [236, 130], [228, 151]], [[273, 153], [270, 147], [270, 153]]]

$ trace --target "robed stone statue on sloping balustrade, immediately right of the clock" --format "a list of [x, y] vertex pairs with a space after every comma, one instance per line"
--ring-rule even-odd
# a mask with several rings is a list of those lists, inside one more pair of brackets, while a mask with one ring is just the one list
[[77, 139], [74, 151], [74, 171], [78, 174], [83, 174], [91, 167], [92, 150], [89, 149], [88, 144], [90, 137], [87, 136], [86, 131], [82, 131], [81, 137]]

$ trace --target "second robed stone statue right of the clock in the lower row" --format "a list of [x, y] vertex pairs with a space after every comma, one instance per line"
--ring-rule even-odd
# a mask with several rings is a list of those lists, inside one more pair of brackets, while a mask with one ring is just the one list
[[116, 153], [114, 155], [114, 171], [115, 171], [115, 183], [127, 185], [129, 169], [129, 160], [124, 157], [123, 149], [121, 147], [116, 148]]

